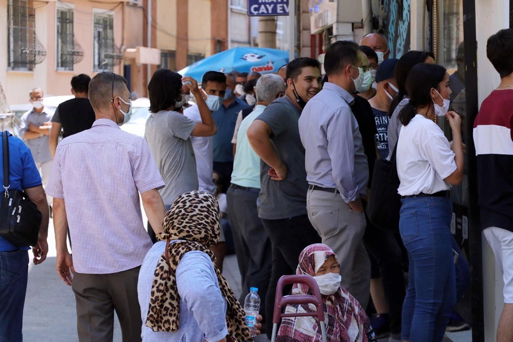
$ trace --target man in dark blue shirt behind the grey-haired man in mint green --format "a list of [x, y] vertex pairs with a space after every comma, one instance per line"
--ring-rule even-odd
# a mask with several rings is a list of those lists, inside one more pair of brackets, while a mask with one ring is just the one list
[[226, 92], [223, 105], [212, 112], [215, 127], [218, 131], [213, 136], [213, 169], [223, 177], [221, 192], [226, 193], [230, 185], [230, 176], [233, 170], [233, 144], [231, 138], [235, 130], [235, 123], [239, 111], [248, 107], [248, 104], [237, 98], [234, 93], [235, 77], [231, 73], [226, 74]]

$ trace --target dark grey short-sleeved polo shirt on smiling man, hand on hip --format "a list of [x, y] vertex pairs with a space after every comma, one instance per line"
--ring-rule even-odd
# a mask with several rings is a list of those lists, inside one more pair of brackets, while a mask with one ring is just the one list
[[287, 98], [274, 100], [255, 120], [262, 120], [272, 131], [272, 146], [287, 166], [287, 178], [274, 181], [267, 175], [269, 166], [260, 162], [260, 195], [257, 200], [260, 218], [278, 220], [306, 215], [308, 183], [305, 149], [301, 144], [298, 119], [301, 111]]

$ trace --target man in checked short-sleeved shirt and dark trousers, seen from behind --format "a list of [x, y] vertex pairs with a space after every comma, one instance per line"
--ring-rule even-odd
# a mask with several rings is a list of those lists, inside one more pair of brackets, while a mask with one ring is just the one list
[[158, 190], [165, 184], [146, 141], [119, 127], [132, 112], [126, 80], [98, 73], [89, 100], [96, 120], [58, 144], [48, 182], [57, 273], [75, 294], [78, 340], [111, 341], [115, 310], [123, 341], [141, 341], [137, 279], [152, 243], [139, 195], [153, 230], [161, 233], [165, 209]]

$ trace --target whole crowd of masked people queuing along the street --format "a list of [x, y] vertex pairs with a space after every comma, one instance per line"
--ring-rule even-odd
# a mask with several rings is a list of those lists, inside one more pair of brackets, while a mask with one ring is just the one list
[[[474, 137], [482, 226], [505, 282], [498, 340], [507, 341], [513, 30], [491, 36], [487, 52], [501, 85], [483, 102]], [[121, 75], [73, 77], [74, 99], [53, 117], [32, 89], [25, 143], [9, 136], [9, 177], [43, 216], [35, 264], [48, 253], [53, 216], [57, 273], [75, 294], [79, 340], [112, 340], [114, 311], [124, 341], [249, 340], [242, 306], [253, 287], [262, 298], [257, 333], [270, 336], [278, 279], [297, 273], [319, 285], [329, 341], [441, 341], [469, 288], [450, 232], [450, 189], [465, 173], [463, 113], [450, 110], [451, 77], [432, 53], [389, 54], [385, 37], [371, 33], [360, 46], [331, 44], [323, 68], [297, 58], [277, 74], [208, 71], [201, 86], [156, 70], [144, 138], [119, 128], [132, 113]], [[366, 213], [379, 159], [397, 165], [396, 231]], [[222, 275], [231, 246], [240, 298]], [[22, 340], [28, 249], [0, 238], [10, 277], [0, 282], [5, 340]], [[298, 284], [286, 292], [311, 294]], [[319, 341], [319, 322], [284, 319], [277, 340]]]

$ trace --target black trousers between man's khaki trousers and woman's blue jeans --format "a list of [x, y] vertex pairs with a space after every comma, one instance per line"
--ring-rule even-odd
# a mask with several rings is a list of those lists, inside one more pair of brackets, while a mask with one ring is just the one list
[[395, 234], [379, 229], [367, 220], [363, 242], [379, 270], [376, 272], [376, 269], [373, 269], [371, 277], [379, 278], [381, 274], [383, 279], [385, 297], [390, 308], [390, 332], [399, 334], [406, 289], [403, 277], [403, 253]]

